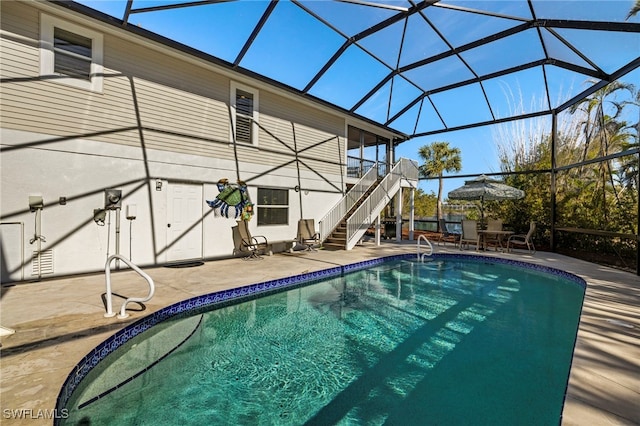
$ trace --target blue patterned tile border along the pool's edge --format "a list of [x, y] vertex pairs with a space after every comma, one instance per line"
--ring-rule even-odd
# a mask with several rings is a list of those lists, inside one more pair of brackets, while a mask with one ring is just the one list
[[[169, 318], [172, 318], [176, 315], [184, 314], [187, 312], [194, 311], [196, 309], [204, 309], [210, 308], [215, 305], [223, 305], [230, 302], [237, 302], [244, 298], [262, 294], [269, 293], [273, 291], [280, 291], [290, 287], [299, 286], [302, 284], [310, 284], [314, 281], [332, 278], [344, 275], [349, 272], [358, 271], [361, 269], [369, 268], [372, 266], [379, 265], [384, 262], [393, 261], [393, 260], [409, 260], [416, 259], [416, 255], [411, 254], [397, 254], [392, 256], [379, 257], [375, 259], [369, 259], [357, 263], [352, 263], [348, 265], [336, 266], [329, 269], [323, 269], [320, 271], [309, 272], [305, 274], [294, 275], [290, 277], [279, 278], [276, 280], [264, 281], [261, 283], [250, 284], [243, 287], [238, 287], [229, 290], [223, 290], [215, 293], [209, 293], [202, 296], [196, 296], [187, 300], [183, 300], [181, 302], [174, 303], [165, 308], [162, 308], [144, 318], [139, 319], [123, 328], [122, 330], [116, 332], [111, 337], [107, 338], [105, 341], [96, 346], [93, 350], [91, 350], [87, 355], [76, 364], [75, 367], [71, 370], [67, 379], [65, 380], [62, 388], [60, 390], [60, 394], [56, 400], [56, 409], [61, 410], [65, 408], [66, 404], [69, 402], [69, 399], [73, 392], [77, 389], [80, 382], [87, 376], [89, 371], [91, 371], [100, 361], [106, 358], [109, 354], [118, 349], [121, 345], [137, 336], [138, 334], [148, 330], [154, 325], [165, 321]], [[465, 260], [465, 261], [478, 261], [478, 262], [491, 262], [491, 263], [500, 263], [512, 266], [519, 266], [528, 269], [533, 269], [536, 271], [548, 273], [551, 275], [556, 275], [565, 279], [568, 279], [582, 288], [586, 289], [587, 283], [584, 279], [578, 277], [577, 275], [571, 274], [566, 271], [562, 271], [560, 269], [551, 268], [548, 266], [536, 265], [532, 263], [521, 262], [517, 260], [511, 259], [503, 259], [503, 258], [487, 258], [486, 256], [479, 255], [470, 255], [470, 254], [450, 254], [450, 253], [436, 253], [429, 257], [431, 260], [437, 259], [451, 259], [451, 260]], [[60, 420], [55, 419], [54, 424], [59, 424]]]

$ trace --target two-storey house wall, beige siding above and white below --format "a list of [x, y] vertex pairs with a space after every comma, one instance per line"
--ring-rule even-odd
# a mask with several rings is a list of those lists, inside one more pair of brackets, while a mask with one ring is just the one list
[[[40, 77], [43, 15], [102, 35], [101, 91]], [[0, 19], [2, 282], [100, 271], [116, 247], [138, 265], [166, 263], [176, 244], [170, 185], [193, 185], [203, 201], [221, 178], [245, 181], [254, 202], [259, 187], [288, 190], [288, 224], [250, 222], [270, 241], [293, 240], [299, 218], [318, 221], [341, 197], [347, 118], [338, 112], [238, 75], [260, 95], [260, 130], [257, 147], [234, 150], [229, 71], [45, 3], [3, 2]], [[107, 188], [122, 190], [120, 220], [111, 211], [98, 226]], [[42, 211], [30, 211], [29, 196], [43, 198]], [[199, 257], [233, 255], [235, 219], [198, 209]], [[41, 269], [31, 260], [38, 246], [51, 257]]]

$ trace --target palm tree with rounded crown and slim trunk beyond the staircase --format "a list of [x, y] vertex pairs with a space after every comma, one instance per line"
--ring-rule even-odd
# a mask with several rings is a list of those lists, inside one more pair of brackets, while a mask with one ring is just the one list
[[[418, 155], [424, 161], [420, 166], [420, 174], [423, 177], [438, 176], [438, 204], [436, 214], [442, 218], [442, 175], [444, 172], [459, 172], [462, 170], [462, 158], [460, 149], [449, 146], [449, 142], [432, 142], [418, 150]], [[440, 221], [438, 221], [440, 228]], [[438, 229], [441, 231], [441, 229]]]

